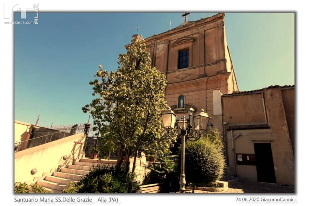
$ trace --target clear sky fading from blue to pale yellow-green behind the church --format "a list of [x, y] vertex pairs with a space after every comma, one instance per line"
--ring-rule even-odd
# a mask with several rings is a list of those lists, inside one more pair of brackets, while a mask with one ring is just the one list
[[[98, 65], [117, 69], [132, 35], [175, 28], [182, 13], [39, 13], [15, 24], [15, 120], [41, 126], [84, 123]], [[215, 13], [191, 13], [189, 21]], [[26, 21], [34, 14], [27, 13]], [[15, 13], [15, 21], [20, 13]], [[294, 84], [294, 14], [226, 13], [227, 44], [240, 90]]]

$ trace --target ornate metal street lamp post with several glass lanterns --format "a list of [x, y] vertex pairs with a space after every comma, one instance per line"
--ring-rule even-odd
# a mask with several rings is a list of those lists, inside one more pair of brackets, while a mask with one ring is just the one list
[[210, 116], [201, 109], [193, 117], [193, 125], [190, 125], [191, 116], [194, 113], [194, 109], [190, 107], [188, 110], [189, 122], [187, 122], [186, 117], [183, 116], [182, 120], [177, 121], [177, 129], [180, 129], [180, 134], [178, 131], [174, 131], [176, 121], [176, 114], [171, 110], [171, 107], [167, 107], [162, 113], [163, 127], [167, 130], [167, 136], [173, 140], [181, 138], [181, 167], [180, 167], [180, 192], [184, 193], [186, 191], [185, 185], [185, 174], [184, 174], [184, 150], [185, 150], [185, 138], [190, 141], [197, 141], [201, 138], [201, 135], [206, 131]]

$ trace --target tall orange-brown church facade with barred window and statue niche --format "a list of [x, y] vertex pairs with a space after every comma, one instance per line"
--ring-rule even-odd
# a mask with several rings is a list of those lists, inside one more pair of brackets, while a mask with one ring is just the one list
[[239, 90], [226, 42], [224, 13], [185, 21], [146, 38], [145, 43], [152, 66], [166, 76], [165, 99], [177, 118], [185, 115], [188, 120], [190, 107], [195, 112], [204, 109], [212, 117], [209, 125], [222, 133], [221, 95]]

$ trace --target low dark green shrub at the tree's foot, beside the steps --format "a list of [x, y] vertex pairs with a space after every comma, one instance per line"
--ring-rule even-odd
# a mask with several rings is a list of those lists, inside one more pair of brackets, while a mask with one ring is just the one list
[[135, 178], [125, 166], [97, 166], [85, 178], [71, 185], [67, 193], [127, 193], [129, 183]]

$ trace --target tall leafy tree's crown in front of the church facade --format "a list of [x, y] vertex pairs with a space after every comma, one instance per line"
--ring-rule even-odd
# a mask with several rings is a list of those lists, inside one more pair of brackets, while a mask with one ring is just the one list
[[[99, 79], [90, 82], [97, 98], [82, 108], [91, 113], [100, 129], [101, 149], [115, 151], [121, 146], [122, 152], [135, 151], [135, 156], [138, 150], [151, 154], [167, 151], [171, 140], [162, 138], [166, 131], [161, 123], [167, 106], [165, 76], [151, 67], [150, 54], [139, 36], [118, 59], [116, 72], [99, 66], [95, 75]], [[118, 165], [121, 162], [119, 159]]]

